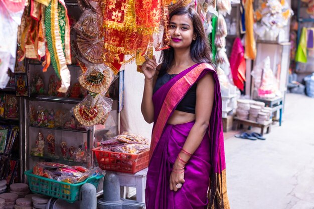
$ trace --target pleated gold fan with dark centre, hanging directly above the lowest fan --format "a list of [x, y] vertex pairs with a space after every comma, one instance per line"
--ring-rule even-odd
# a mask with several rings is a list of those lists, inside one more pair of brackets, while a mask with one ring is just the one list
[[78, 81], [88, 91], [102, 93], [109, 89], [116, 78], [117, 76], [108, 66], [100, 64], [88, 66], [87, 71], [78, 78]]

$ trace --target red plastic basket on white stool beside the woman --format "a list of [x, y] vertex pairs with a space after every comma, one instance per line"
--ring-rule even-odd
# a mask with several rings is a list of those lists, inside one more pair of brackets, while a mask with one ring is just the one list
[[101, 146], [94, 148], [99, 167], [123, 173], [136, 173], [148, 167], [149, 150], [139, 154], [125, 154], [118, 152], [102, 151]]

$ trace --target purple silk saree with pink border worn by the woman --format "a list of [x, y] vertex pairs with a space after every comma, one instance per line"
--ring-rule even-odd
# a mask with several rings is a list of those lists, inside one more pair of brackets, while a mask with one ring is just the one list
[[[187, 91], [206, 73], [215, 80], [215, 97], [208, 134], [193, 153], [185, 168], [185, 183], [171, 191], [171, 168], [181, 151], [194, 121], [169, 125], [167, 121]], [[226, 191], [225, 156], [218, 76], [209, 64], [196, 64], [153, 94], [154, 125], [146, 181], [147, 209], [229, 209]], [[209, 188], [209, 190], [208, 190]], [[208, 191], [208, 193], [207, 193]]]

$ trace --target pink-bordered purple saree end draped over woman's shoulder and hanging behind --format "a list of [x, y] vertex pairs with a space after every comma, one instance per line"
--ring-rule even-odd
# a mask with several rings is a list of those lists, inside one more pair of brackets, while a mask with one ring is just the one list
[[224, 137], [222, 132], [220, 85], [218, 75], [210, 64], [202, 63], [192, 66], [175, 76], [154, 93], [152, 98], [154, 103], [154, 125], [152, 129], [149, 159], [151, 159], [153, 151], [167, 125], [167, 121], [175, 111], [176, 106], [180, 103], [188, 90], [207, 73], [212, 73], [215, 81], [214, 102], [208, 128], [208, 136], [210, 138], [209, 152], [211, 153], [210, 163], [212, 165], [212, 173], [209, 176], [208, 208], [229, 209], [226, 186]]

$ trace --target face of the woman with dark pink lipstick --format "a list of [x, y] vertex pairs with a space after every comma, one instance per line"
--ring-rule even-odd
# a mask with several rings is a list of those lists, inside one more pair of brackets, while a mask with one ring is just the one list
[[190, 48], [192, 41], [196, 39], [193, 23], [188, 14], [174, 15], [169, 23], [169, 32], [170, 46], [174, 49]]

